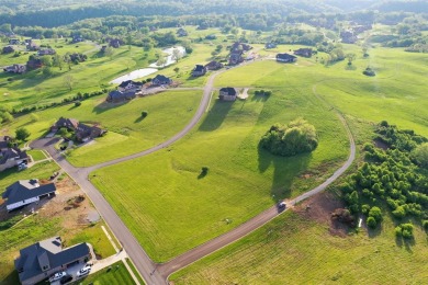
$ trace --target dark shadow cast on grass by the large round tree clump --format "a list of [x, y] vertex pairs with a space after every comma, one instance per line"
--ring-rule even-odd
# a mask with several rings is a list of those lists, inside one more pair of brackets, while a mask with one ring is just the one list
[[295, 178], [307, 169], [312, 153], [301, 153], [294, 157], [273, 156], [260, 145], [259, 172], [263, 173], [273, 164], [271, 196], [274, 202], [291, 197], [291, 186]]

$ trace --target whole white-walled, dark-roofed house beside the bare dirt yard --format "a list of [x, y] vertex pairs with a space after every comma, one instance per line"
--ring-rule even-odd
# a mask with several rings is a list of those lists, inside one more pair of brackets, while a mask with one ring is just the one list
[[5, 208], [11, 212], [15, 208], [38, 202], [43, 197], [55, 195], [55, 184], [40, 185], [38, 180], [20, 180], [5, 189], [2, 198], [5, 201]]

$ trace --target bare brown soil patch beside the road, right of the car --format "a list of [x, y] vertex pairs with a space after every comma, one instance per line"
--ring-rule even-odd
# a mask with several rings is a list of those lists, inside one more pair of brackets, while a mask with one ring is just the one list
[[341, 213], [338, 209], [343, 207], [343, 202], [330, 193], [323, 192], [295, 206], [293, 210], [304, 218], [328, 225], [330, 235], [345, 238], [347, 237], [349, 226], [337, 218], [337, 213]]

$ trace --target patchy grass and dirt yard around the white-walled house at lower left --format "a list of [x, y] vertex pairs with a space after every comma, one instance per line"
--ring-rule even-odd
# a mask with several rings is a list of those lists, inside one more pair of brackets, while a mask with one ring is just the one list
[[[15, 170], [1, 172], [0, 193], [18, 180], [35, 178], [46, 181], [54, 171], [58, 171], [56, 163], [41, 162], [21, 172]], [[83, 194], [81, 190], [64, 174], [58, 179], [57, 189], [57, 195], [48, 202], [48, 206], [36, 209], [36, 214], [23, 220], [23, 215], [29, 214], [29, 209], [24, 209], [23, 214], [13, 212], [8, 214], [1, 208], [0, 284], [16, 284], [18, 273], [14, 271], [13, 260], [19, 255], [20, 249], [54, 236], [60, 236], [65, 247], [89, 242], [99, 258], [114, 254], [114, 249], [101, 228], [105, 224], [102, 220], [93, 224], [85, 220], [87, 214], [95, 212], [88, 200], [86, 198], [80, 206], [70, 207], [74, 197]]]

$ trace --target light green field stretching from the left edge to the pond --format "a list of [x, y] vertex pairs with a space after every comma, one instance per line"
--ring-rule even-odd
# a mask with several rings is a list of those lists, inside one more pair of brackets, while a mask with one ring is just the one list
[[[65, 64], [63, 69], [53, 67], [50, 77], [45, 77], [41, 69], [26, 72], [22, 76], [0, 75], [0, 103], [13, 109], [31, 105], [44, 105], [50, 102], [60, 102], [64, 98], [76, 95], [78, 92], [98, 91], [103, 88], [113, 88], [109, 82], [115, 77], [127, 73], [133, 69], [146, 67], [155, 53], [145, 53], [142, 48], [121, 47], [114, 49], [112, 57], [100, 56], [93, 44], [88, 48], [95, 49], [88, 55], [88, 60], [79, 65], [71, 65], [71, 70]], [[89, 49], [89, 50], [91, 50]], [[65, 50], [58, 50], [64, 55]], [[72, 90], [65, 80], [72, 78]], [[13, 78], [13, 81], [8, 81]]]

